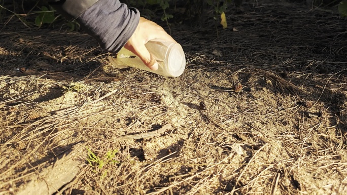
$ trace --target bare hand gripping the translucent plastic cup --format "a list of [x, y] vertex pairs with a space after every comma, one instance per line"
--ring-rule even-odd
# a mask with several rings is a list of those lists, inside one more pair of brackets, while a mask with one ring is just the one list
[[140, 22], [138, 22], [135, 32], [125, 44], [124, 48], [138, 56], [150, 69], [157, 70], [158, 62], [145, 47], [148, 41], [156, 38], [177, 43], [161, 26], [140, 17]]

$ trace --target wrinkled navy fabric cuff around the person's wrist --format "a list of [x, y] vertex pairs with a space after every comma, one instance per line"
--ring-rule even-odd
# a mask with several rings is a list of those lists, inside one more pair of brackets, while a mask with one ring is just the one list
[[117, 53], [134, 33], [140, 12], [118, 0], [99, 0], [78, 16], [77, 21], [102, 49]]

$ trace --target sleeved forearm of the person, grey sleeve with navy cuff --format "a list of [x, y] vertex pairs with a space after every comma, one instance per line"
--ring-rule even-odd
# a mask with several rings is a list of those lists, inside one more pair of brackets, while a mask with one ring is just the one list
[[66, 18], [75, 18], [100, 46], [117, 53], [135, 31], [140, 13], [118, 0], [52, 0], [50, 5]]

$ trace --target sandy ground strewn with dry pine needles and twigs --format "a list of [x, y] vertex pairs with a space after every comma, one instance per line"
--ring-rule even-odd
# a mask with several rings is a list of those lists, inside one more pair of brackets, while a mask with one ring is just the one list
[[85, 33], [12, 19], [0, 36], [0, 194], [69, 174], [53, 193], [347, 194], [347, 20], [258, 2], [227, 14], [218, 36], [213, 20], [172, 23], [187, 59], [176, 78], [115, 69]]

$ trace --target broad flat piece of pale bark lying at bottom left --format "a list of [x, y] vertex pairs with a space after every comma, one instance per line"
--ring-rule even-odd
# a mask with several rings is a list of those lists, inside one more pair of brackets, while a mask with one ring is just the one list
[[60, 155], [57, 161], [41, 171], [28, 176], [26, 183], [17, 195], [50, 195], [63, 185], [71, 182], [80, 171], [81, 162], [87, 159], [85, 143], [76, 144]]

